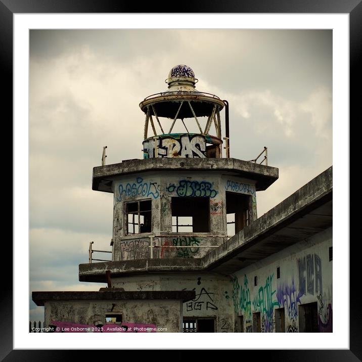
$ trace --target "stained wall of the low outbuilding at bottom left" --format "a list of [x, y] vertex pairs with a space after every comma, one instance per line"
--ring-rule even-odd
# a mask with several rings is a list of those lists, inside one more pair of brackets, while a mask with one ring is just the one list
[[122, 313], [122, 322], [153, 324], [167, 328], [160, 332], [182, 331], [182, 302], [179, 300], [71, 300], [46, 301], [45, 324], [51, 321], [95, 325], [105, 324], [106, 313]]

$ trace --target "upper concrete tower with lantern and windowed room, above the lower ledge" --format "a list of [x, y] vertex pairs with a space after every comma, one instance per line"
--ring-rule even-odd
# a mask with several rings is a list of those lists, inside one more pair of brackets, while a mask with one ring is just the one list
[[256, 192], [278, 178], [276, 168], [228, 157], [228, 112], [222, 157], [228, 103], [197, 91], [190, 67], [173, 67], [166, 82], [140, 103], [144, 159], [94, 168], [93, 190], [114, 194], [113, 261], [204, 256], [256, 219]]

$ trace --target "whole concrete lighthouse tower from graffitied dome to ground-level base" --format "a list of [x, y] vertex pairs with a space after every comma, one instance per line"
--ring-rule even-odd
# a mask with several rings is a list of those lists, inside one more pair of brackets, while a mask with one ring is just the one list
[[93, 170], [93, 190], [114, 194], [112, 262], [79, 265], [79, 280], [105, 282], [108, 271], [112, 288], [195, 291], [182, 308], [184, 329], [190, 315], [198, 330], [216, 330], [234, 320], [231, 299], [218, 300], [230, 277], [196, 276], [195, 262], [256, 219], [256, 192], [278, 169], [230, 158], [228, 102], [198, 91], [190, 67], [173, 67], [166, 82], [140, 103], [143, 159]]

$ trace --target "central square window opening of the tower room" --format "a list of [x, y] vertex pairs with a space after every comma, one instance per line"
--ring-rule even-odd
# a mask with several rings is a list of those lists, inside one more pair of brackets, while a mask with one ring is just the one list
[[172, 197], [172, 232], [209, 233], [209, 205], [208, 197]]

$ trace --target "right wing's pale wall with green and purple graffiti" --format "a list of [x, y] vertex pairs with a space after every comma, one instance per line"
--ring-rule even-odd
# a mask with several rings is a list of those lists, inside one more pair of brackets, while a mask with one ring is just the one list
[[[275, 332], [275, 309], [284, 307], [285, 332], [298, 332], [298, 306], [310, 302], [318, 302], [319, 331], [332, 331], [330, 247], [332, 228], [235, 273], [232, 276], [234, 312], [243, 315], [244, 331], [252, 331], [252, 313], [260, 312], [262, 332]], [[257, 286], [254, 286], [255, 277]]]

